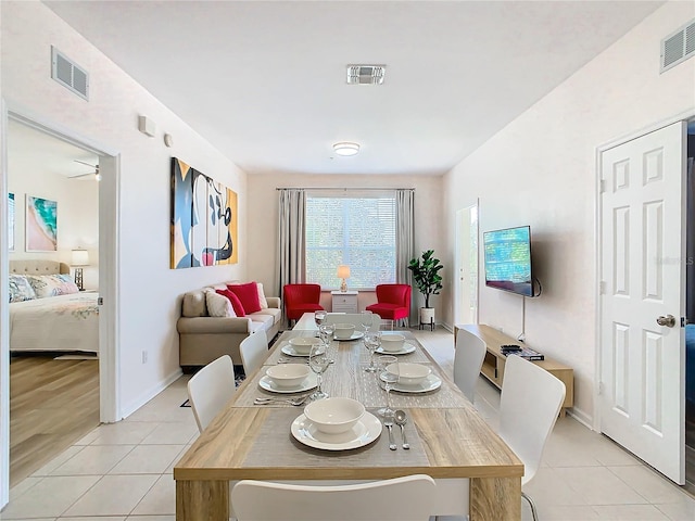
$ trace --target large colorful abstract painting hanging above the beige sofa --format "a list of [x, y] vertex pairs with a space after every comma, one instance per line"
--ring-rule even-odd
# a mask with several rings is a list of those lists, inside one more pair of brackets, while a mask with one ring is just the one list
[[172, 269], [236, 264], [237, 193], [172, 157]]

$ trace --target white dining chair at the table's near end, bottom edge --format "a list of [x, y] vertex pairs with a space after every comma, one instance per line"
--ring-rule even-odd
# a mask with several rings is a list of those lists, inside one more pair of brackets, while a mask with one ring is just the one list
[[333, 486], [244, 480], [231, 505], [238, 521], [427, 521], [435, 487], [425, 474]]

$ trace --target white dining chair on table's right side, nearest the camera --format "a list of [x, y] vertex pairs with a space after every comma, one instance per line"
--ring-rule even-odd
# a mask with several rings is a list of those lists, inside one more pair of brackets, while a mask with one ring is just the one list
[[[500, 436], [523, 461], [521, 486], [533, 479], [543, 449], [565, 402], [565, 384], [541, 367], [517, 355], [507, 356], [500, 398]], [[521, 493], [534, 521], [533, 500]]]

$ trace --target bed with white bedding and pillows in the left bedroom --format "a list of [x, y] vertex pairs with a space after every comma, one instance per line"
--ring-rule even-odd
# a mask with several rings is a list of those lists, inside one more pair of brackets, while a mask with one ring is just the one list
[[98, 293], [80, 292], [65, 264], [10, 262], [10, 351], [99, 352]]

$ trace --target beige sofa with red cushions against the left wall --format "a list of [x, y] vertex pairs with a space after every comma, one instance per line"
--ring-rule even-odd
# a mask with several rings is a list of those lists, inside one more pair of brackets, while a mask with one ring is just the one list
[[[225, 288], [225, 284], [213, 288]], [[176, 325], [181, 367], [205, 366], [222, 355], [231, 356], [233, 364], [240, 366], [239, 344], [243, 339], [265, 330], [269, 342], [280, 331], [282, 309], [279, 297], [266, 296], [268, 307], [245, 317], [211, 317], [205, 303], [206, 289], [184, 294], [181, 316]]]

